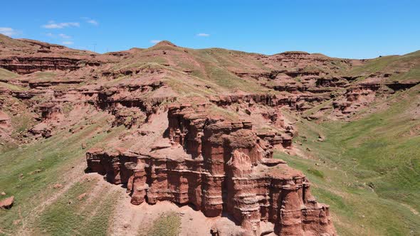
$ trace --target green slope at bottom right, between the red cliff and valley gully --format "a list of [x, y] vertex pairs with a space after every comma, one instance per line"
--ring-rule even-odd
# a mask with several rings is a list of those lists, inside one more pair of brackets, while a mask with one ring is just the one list
[[[347, 168], [329, 163], [327, 159], [324, 163], [324, 159], [303, 159], [277, 151], [274, 157], [305, 173], [317, 201], [330, 205], [339, 235], [412, 235], [419, 232], [419, 215], [397, 201], [381, 198]], [[323, 178], [318, 171], [323, 173]]]

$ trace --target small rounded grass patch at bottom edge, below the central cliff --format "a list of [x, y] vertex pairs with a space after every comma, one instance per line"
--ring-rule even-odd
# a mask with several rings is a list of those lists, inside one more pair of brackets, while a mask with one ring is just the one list
[[154, 220], [147, 235], [178, 236], [180, 226], [181, 218], [177, 213], [164, 213], [157, 220]]

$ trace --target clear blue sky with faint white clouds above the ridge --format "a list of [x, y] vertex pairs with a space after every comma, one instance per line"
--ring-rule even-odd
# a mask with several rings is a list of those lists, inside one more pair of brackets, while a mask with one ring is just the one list
[[188, 48], [374, 58], [420, 50], [420, 1], [4, 1], [0, 33], [100, 53]]

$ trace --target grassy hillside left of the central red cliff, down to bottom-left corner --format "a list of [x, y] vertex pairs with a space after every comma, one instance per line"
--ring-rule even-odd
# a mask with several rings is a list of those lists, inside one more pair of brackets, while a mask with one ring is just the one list
[[[74, 134], [64, 129], [50, 139], [0, 154], [0, 192], [6, 193], [0, 199], [15, 196], [11, 210], [0, 210], [0, 235], [105, 234], [115, 193], [95, 192], [96, 181], [84, 177], [82, 144], [103, 144], [122, 131], [106, 132], [107, 118], [98, 114], [95, 124], [76, 124], [85, 128]], [[79, 200], [82, 193], [85, 197]]]

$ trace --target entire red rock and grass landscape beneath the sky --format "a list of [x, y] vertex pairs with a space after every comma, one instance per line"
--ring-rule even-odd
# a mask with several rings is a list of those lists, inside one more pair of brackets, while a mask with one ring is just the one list
[[419, 51], [100, 55], [0, 35], [0, 234], [419, 235], [419, 72]]

